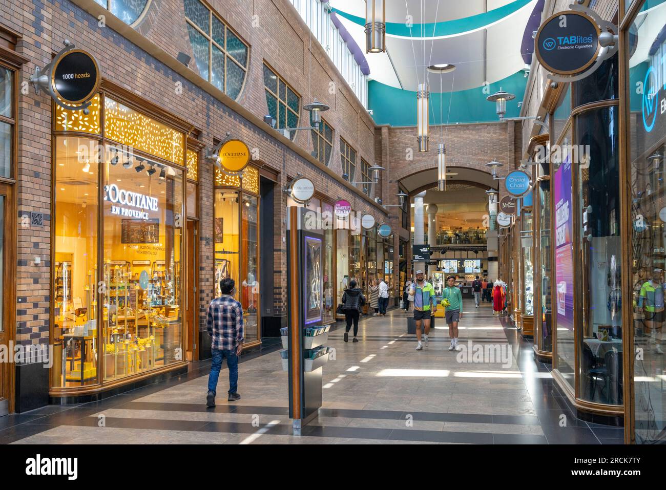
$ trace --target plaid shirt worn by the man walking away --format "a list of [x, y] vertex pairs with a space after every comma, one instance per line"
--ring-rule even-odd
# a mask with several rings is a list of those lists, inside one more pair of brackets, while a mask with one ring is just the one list
[[223, 294], [208, 305], [206, 320], [212, 349], [234, 350], [243, 342], [243, 308], [231, 296]]

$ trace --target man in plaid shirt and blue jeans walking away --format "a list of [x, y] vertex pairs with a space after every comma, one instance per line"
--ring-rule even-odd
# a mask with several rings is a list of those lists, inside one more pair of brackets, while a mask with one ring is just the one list
[[234, 300], [236, 282], [227, 278], [220, 281], [222, 296], [215, 298], [208, 305], [206, 326], [212, 338], [212, 366], [208, 376], [208, 394], [206, 407], [215, 406], [217, 379], [222, 369], [222, 361], [226, 358], [229, 367], [228, 401], [240, 399], [238, 389], [238, 356], [243, 348], [243, 309]]

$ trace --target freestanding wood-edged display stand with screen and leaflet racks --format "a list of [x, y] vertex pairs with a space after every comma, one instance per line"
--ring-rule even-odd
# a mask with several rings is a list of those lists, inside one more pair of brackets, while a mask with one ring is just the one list
[[[288, 371], [289, 417], [294, 435], [314, 419], [322, 406], [323, 366], [328, 354], [310, 360], [306, 348], [306, 328], [322, 320], [323, 230], [306, 229], [307, 208], [288, 208], [287, 274], [288, 274]], [[311, 211], [310, 211], [311, 212]], [[312, 228], [312, 226], [308, 226]], [[321, 228], [321, 226], [317, 226]], [[322, 338], [325, 342], [326, 338]], [[310, 339], [312, 342], [312, 339]], [[320, 346], [310, 345], [310, 348]]]

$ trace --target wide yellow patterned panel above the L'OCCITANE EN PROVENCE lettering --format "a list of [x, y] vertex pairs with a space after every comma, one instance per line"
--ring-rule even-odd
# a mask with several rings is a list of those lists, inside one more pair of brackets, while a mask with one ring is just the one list
[[104, 132], [107, 138], [170, 162], [183, 164], [184, 134], [182, 132], [109, 99], [109, 97], [104, 100], [104, 106]]

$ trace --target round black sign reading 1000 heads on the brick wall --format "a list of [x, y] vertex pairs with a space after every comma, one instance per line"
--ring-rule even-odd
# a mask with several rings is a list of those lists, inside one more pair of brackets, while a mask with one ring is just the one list
[[99, 87], [99, 69], [93, 55], [73, 49], [56, 61], [51, 71], [51, 87], [65, 103], [89, 101]]

